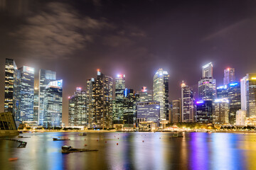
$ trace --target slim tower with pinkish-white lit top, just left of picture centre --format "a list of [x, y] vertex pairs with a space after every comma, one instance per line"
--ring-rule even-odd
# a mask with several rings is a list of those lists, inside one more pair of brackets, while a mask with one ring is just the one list
[[124, 89], [125, 89], [125, 75], [118, 74], [115, 78], [115, 100], [113, 124], [123, 124], [124, 117]]

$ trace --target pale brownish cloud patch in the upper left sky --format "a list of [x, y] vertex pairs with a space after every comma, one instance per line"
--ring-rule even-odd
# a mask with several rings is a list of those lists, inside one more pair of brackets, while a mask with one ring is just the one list
[[27, 57], [44, 59], [71, 57], [87, 46], [102, 28], [111, 27], [104, 19], [80, 16], [75, 9], [62, 3], [49, 3], [45, 11], [26, 19], [26, 25], [11, 33]]

